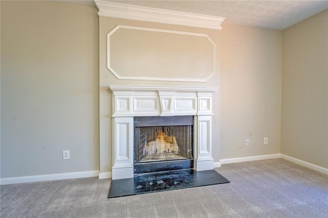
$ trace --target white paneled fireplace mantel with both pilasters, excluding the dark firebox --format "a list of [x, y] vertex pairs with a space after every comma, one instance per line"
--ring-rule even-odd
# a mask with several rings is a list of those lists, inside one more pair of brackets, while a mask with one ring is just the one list
[[110, 85], [113, 92], [112, 179], [133, 178], [133, 118], [194, 116], [194, 168], [214, 168], [212, 94], [218, 88]]

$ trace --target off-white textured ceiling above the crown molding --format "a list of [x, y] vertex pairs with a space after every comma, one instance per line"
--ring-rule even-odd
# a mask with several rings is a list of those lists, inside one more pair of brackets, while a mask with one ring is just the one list
[[[67, 0], [66, 0], [67, 1]], [[328, 9], [328, 0], [209, 1], [120, 0], [123, 4], [226, 17], [224, 23], [282, 30]], [[90, 3], [90, 1], [82, 1]], [[91, 1], [92, 2], [92, 1]], [[90, 3], [92, 4], [92, 3]]]

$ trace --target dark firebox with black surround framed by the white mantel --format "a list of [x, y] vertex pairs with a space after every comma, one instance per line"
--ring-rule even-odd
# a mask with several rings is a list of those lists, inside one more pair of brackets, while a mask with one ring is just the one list
[[134, 173], [193, 168], [193, 116], [134, 117]]

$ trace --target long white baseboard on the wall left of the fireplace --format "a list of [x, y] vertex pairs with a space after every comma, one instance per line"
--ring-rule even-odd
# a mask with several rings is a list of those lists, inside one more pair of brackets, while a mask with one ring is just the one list
[[98, 177], [98, 175], [99, 175], [99, 170], [93, 170], [93, 171], [37, 175], [37, 176], [28, 176], [28, 177], [10, 177], [10, 178], [0, 179], [0, 184], [7, 185], [7, 184], [16, 184], [16, 183], [43, 182], [43, 181], [51, 181], [51, 180], [78, 179], [78, 178], [87, 178], [87, 177]]

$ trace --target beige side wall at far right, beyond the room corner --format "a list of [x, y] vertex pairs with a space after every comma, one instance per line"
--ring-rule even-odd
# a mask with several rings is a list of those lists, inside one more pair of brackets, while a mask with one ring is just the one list
[[328, 168], [328, 10], [282, 38], [281, 153]]

